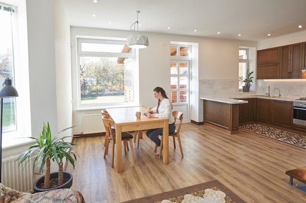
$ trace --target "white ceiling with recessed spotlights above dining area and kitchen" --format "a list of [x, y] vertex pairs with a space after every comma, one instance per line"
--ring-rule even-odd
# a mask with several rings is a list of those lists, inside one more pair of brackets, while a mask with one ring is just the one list
[[306, 0], [62, 1], [71, 26], [130, 30], [138, 10], [140, 33], [260, 41], [306, 30]]

